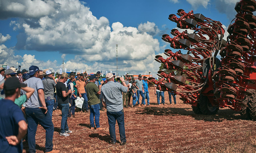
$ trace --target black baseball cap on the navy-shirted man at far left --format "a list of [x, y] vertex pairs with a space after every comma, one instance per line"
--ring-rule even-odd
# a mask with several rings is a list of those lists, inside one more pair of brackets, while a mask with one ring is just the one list
[[17, 89], [17, 88], [23, 88], [26, 86], [27, 85], [25, 83], [20, 83], [20, 81], [17, 77], [7, 78], [3, 84], [4, 90], [12, 90], [12, 89]]

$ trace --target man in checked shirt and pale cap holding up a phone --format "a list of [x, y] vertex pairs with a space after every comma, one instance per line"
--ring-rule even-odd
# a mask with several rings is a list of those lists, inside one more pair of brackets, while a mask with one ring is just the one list
[[116, 144], [116, 121], [119, 126], [120, 134], [120, 145], [126, 144], [125, 136], [125, 117], [122, 103], [122, 92], [127, 93], [128, 87], [125, 84], [125, 79], [120, 77], [123, 85], [114, 82], [114, 77], [112, 73], [106, 74], [106, 79], [108, 83], [102, 86], [101, 88], [101, 98], [104, 105], [107, 106], [107, 116], [109, 124], [109, 133], [111, 137], [110, 144]]

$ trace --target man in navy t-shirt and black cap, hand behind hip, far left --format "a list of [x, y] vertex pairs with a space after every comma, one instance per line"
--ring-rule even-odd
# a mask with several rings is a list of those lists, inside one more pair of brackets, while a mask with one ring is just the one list
[[3, 90], [6, 95], [1, 99], [0, 110], [0, 153], [22, 153], [22, 142], [26, 134], [27, 124], [21, 109], [14, 103], [20, 95], [20, 83], [17, 77], [6, 79]]

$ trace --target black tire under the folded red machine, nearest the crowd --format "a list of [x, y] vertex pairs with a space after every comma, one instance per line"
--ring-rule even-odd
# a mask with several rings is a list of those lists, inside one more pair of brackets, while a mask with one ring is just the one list
[[204, 96], [203, 94], [200, 95], [198, 104], [201, 113], [204, 115], [212, 115], [218, 112], [218, 107], [212, 107], [208, 97]]

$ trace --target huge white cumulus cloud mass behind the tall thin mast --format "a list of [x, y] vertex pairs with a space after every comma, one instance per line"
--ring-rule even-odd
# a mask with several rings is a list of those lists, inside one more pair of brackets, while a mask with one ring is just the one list
[[[0, 18], [19, 17], [10, 23], [14, 30], [24, 31], [17, 36], [17, 49], [59, 51], [62, 58], [77, 54], [66, 62], [67, 70], [115, 71], [118, 44], [120, 71], [158, 70], [154, 56], [160, 47], [153, 36], [160, 30], [155, 23], [141, 23], [135, 28], [116, 22], [110, 27], [106, 17], [97, 19], [79, 0], [0, 0], [0, 3], [0, 14], [8, 14]], [[55, 71], [62, 68], [57, 61], [40, 61], [30, 54], [19, 58], [24, 68], [31, 65]]]

